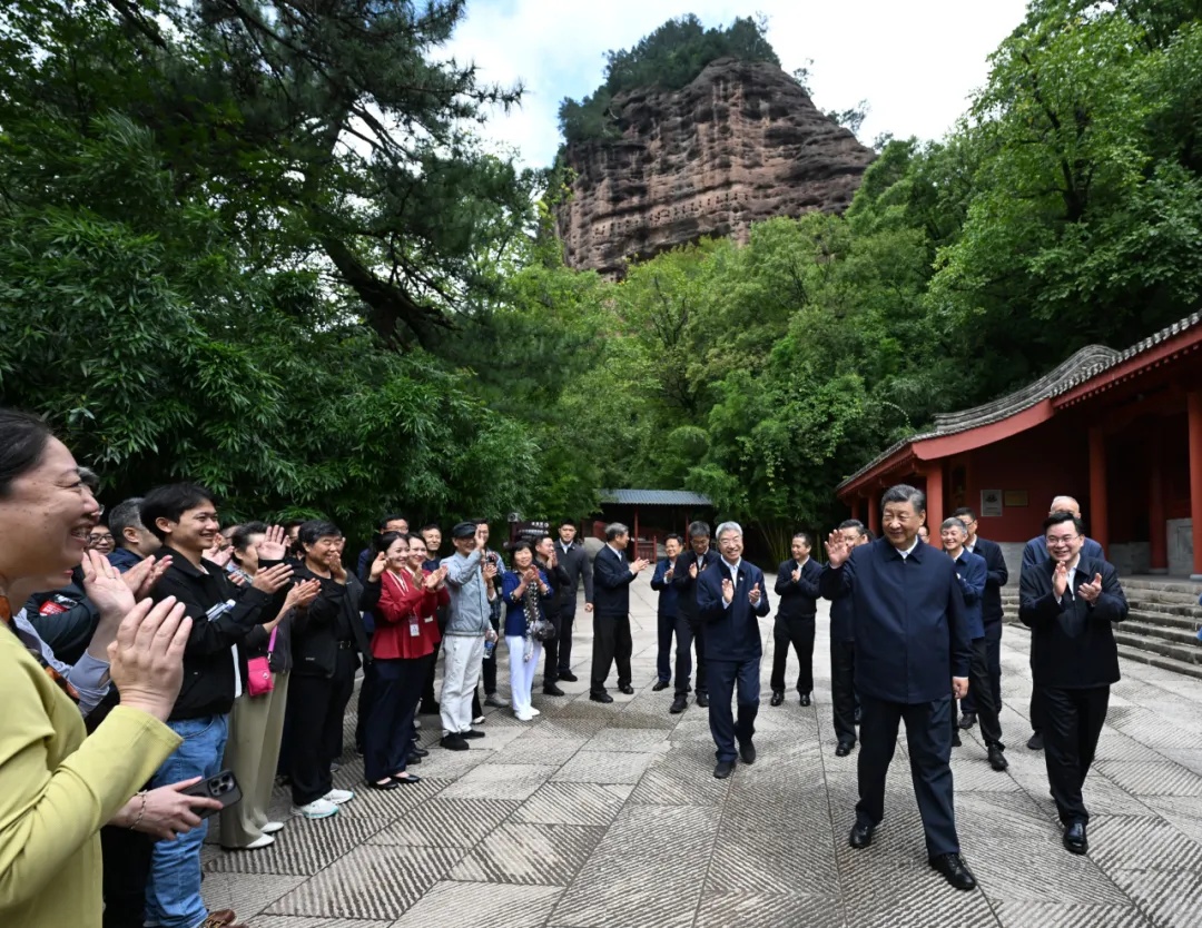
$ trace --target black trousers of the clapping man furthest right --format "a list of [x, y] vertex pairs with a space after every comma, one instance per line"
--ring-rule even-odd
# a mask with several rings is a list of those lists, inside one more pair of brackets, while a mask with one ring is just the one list
[[1106, 724], [1111, 702], [1109, 686], [1081, 690], [1048, 688], [1045, 700], [1043, 762], [1048, 785], [1055, 799], [1060, 821], [1065, 825], [1089, 822], [1089, 811], [1081, 797], [1089, 767], [1097, 751], [1097, 739]]

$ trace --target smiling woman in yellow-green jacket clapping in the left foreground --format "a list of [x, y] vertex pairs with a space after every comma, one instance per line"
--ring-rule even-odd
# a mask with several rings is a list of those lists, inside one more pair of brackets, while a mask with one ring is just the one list
[[[99, 517], [66, 446], [40, 420], [0, 410], [2, 926], [100, 928], [100, 827], [143, 825], [147, 799], [135, 793], [179, 743], [163, 719], [191, 627], [183, 607], [132, 606], [127, 594], [132, 608], [108, 646], [121, 704], [87, 740], [70, 684], [30, 654], [11, 621], [8, 603], [60, 585], [79, 564]], [[115, 600], [117, 581], [102, 577], [97, 588], [107, 584]]]

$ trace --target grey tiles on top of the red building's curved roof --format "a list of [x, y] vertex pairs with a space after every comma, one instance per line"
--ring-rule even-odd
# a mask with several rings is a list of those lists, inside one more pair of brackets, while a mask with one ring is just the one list
[[941, 438], [944, 435], [954, 435], [959, 432], [968, 432], [969, 429], [980, 428], [981, 426], [988, 426], [994, 422], [1000, 422], [1004, 418], [1010, 418], [1025, 409], [1030, 409], [1037, 403], [1042, 403], [1045, 399], [1051, 399], [1052, 397], [1058, 397], [1061, 393], [1067, 393], [1073, 387], [1078, 387], [1085, 381], [1093, 380], [1109, 368], [1113, 368], [1129, 358], [1136, 357], [1137, 355], [1155, 347], [1161, 341], [1178, 335], [1186, 329], [1194, 328], [1200, 323], [1202, 323], [1202, 313], [1194, 313], [1185, 319], [1178, 320], [1172, 326], [1160, 329], [1160, 332], [1149, 335], [1143, 341], [1139, 341], [1121, 352], [1106, 347], [1105, 345], [1087, 345], [1060, 364], [1060, 367], [1043, 375], [1035, 382], [1027, 385], [1022, 389], [1002, 397], [1001, 399], [995, 399], [992, 403], [984, 403], [980, 406], [974, 406], [972, 409], [962, 410], [959, 412], [946, 412], [935, 416], [934, 427], [929, 432], [911, 435], [910, 438], [894, 442], [840, 483], [835, 488], [835, 493], [841, 490], [849, 483], [858, 480], [863, 474], [867, 474], [889, 456], [895, 454], [906, 445], [911, 445], [916, 441], [926, 441], [927, 439]]

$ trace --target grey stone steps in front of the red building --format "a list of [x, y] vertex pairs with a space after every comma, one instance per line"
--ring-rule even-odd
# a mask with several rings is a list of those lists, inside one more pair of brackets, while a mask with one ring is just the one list
[[[1186, 677], [1202, 679], [1202, 626], [1198, 595], [1202, 583], [1165, 577], [1125, 577], [1123, 590], [1131, 607], [1114, 626], [1119, 655]], [[1018, 589], [1004, 589], [1006, 621], [1018, 621]]]

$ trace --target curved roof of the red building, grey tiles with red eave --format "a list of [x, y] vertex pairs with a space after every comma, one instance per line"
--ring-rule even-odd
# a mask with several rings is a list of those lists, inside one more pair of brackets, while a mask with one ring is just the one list
[[[1186, 335], [1186, 333], [1189, 334]], [[1156, 353], [1153, 350], [1164, 343], [1178, 339], [1182, 343], [1182, 350], [1195, 349], [1200, 333], [1202, 333], [1202, 313], [1194, 313], [1132, 345], [1126, 351], [1115, 351], [1105, 345], [1087, 345], [1060, 367], [1014, 393], [972, 409], [935, 416], [930, 430], [910, 435], [893, 444], [840, 483], [835, 488], [835, 493], [841, 495], [853, 484], [862, 482], [865, 476], [871, 475], [873, 471], [887, 470], [893, 466], [894, 457], [906, 453], [908, 448], [918, 442], [992, 426], [1031, 410], [1046, 400], [1051, 400], [1049, 406], [1055, 408], [1073, 405], [1087, 395], [1108, 389], [1133, 376], [1149, 364], [1161, 362], [1161, 358], [1153, 357]], [[1164, 350], [1173, 350], [1173, 346], [1166, 345]], [[1143, 357], [1146, 355], [1147, 357]], [[1048, 415], [1051, 415], [1051, 410]]]

